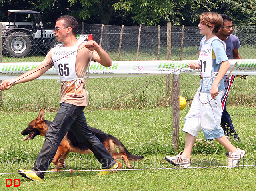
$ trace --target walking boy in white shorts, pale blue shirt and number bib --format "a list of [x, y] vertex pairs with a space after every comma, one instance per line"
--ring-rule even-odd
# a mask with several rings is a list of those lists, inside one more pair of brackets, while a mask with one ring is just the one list
[[[236, 148], [226, 138], [221, 122], [221, 98], [224, 93], [224, 80], [222, 79], [230, 63], [226, 55], [225, 43], [215, 34], [223, 25], [220, 14], [204, 12], [200, 16], [198, 27], [200, 33], [206, 35], [202, 42], [202, 50], [198, 63], [189, 63], [191, 69], [201, 69], [202, 84], [194, 96], [191, 108], [185, 117], [183, 131], [186, 132], [186, 143], [183, 152], [177, 156], [166, 156], [166, 161], [172, 165], [184, 168], [190, 167], [191, 152], [202, 129], [205, 139], [216, 139], [228, 151], [228, 168], [234, 168], [244, 157], [245, 151]], [[201, 87], [202, 86], [202, 87]]]

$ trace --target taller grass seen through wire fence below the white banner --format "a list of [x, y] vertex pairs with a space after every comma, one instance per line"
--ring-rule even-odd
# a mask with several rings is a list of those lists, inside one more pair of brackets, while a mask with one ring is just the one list
[[[86, 87], [89, 95], [88, 108], [94, 109], [126, 93], [134, 91], [162, 76], [91, 78]], [[1, 111], [21, 112], [38, 111], [41, 108], [53, 112], [59, 107], [60, 83], [58, 80], [34, 80], [15, 85], [2, 92]], [[171, 78], [172, 85], [172, 78]], [[180, 96], [186, 99], [194, 97], [200, 85], [197, 75], [180, 75]], [[228, 96], [228, 105], [256, 106], [256, 76], [247, 79], [237, 77]], [[189, 102], [190, 104], [190, 102]], [[156, 108], [171, 107], [172, 95], [166, 96], [166, 77], [134, 91], [114, 102], [105, 105], [104, 109], [123, 108]]]

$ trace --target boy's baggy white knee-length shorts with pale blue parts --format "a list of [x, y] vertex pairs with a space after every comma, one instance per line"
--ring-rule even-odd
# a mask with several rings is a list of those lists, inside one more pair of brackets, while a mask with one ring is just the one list
[[[199, 100], [199, 92], [196, 92], [182, 130], [197, 137], [198, 132], [202, 129], [205, 139], [224, 136], [224, 131], [220, 127], [223, 94], [224, 92], [219, 92], [218, 96], [212, 99], [210, 93], [201, 92]], [[211, 101], [207, 103], [209, 100]]]

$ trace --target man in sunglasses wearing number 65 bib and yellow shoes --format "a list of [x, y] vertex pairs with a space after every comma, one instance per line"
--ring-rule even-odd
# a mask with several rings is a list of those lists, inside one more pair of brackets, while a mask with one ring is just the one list
[[95, 41], [77, 41], [75, 34], [78, 30], [78, 22], [72, 16], [61, 16], [57, 19], [54, 34], [60, 47], [52, 48], [44, 61], [31, 71], [16, 77], [4, 80], [0, 83], [1, 91], [7, 90], [14, 83], [24, 83], [40, 77], [53, 66], [56, 68], [61, 80], [60, 108], [49, 130], [46, 132], [43, 147], [38, 154], [32, 170], [18, 172], [28, 179], [40, 181], [44, 179], [46, 171], [56, 154], [62, 138], [72, 130], [76, 138], [86, 144], [100, 161], [103, 169], [100, 174], [108, 174], [118, 167], [116, 161], [107, 152], [103, 144], [87, 127], [83, 109], [88, 103], [88, 94], [83, 79], [90, 58], [101, 65], [110, 67], [112, 60], [109, 55]]

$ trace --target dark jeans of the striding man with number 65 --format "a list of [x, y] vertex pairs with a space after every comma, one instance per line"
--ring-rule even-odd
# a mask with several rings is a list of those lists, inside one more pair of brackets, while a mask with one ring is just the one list
[[[68, 132], [72, 130], [76, 138], [86, 144], [94, 153], [102, 165], [102, 169], [112, 167], [116, 162], [108, 153], [102, 142], [87, 127], [86, 118], [83, 112], [84, 107], [62, 103], [60, 108], [46, 132], [43, 147], [38, 154], [32, 171], [46, 171], [54, 158], [60, 142]], [[44, 179], [44, 173], [36, 173]]]

